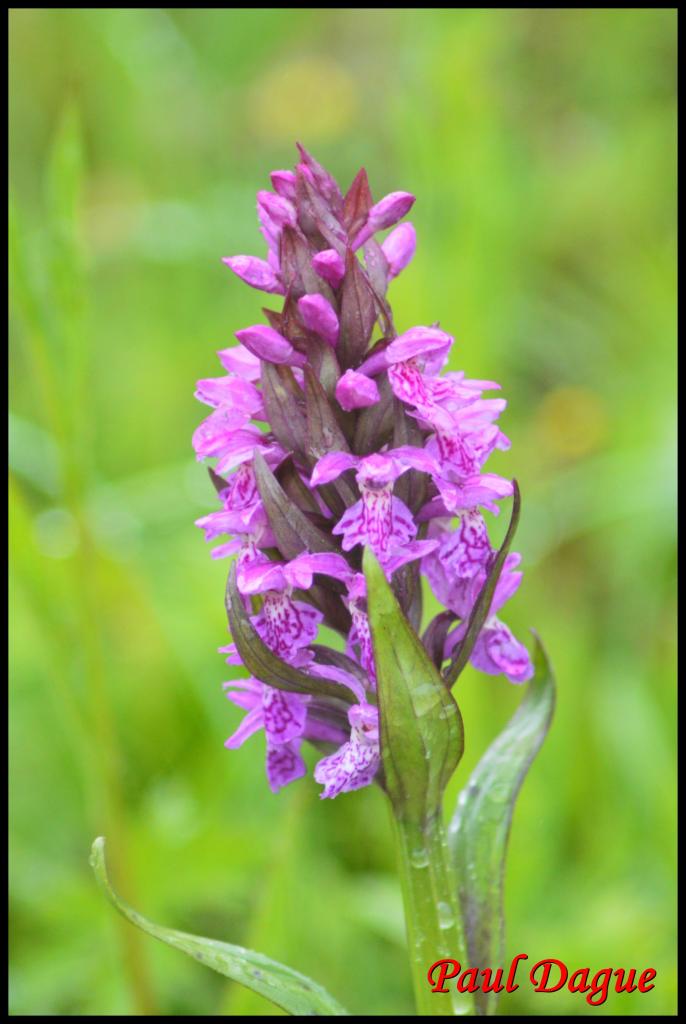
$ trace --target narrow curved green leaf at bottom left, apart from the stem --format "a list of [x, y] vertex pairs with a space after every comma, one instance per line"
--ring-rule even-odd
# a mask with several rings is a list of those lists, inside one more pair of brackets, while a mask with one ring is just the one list
[[343, 1017], [347, 1012], [329, 993], [304, 975], [283, 964], [269, 959], [252, 949], [233, 946], [228, 942], [217, 942], [200, 935], [188, 935], [170, 928], [154, 925], [125, 903], [112, 888], [104, 860], [104, 839], [95, 840], [91, 850], [90, 864], [103, 893], [132, 925], [147, 932], [168, 946], [180, 949], [194, 959], [223, 974], [240, 985], [251, 988], [287, 1013], [297, 1017]]

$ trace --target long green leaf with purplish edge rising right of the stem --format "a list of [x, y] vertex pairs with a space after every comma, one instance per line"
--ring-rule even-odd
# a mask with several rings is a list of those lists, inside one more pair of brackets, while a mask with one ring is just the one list
[[[535, 675], [500, 736], [488, 748], [458, 798], [448, 828], [467, 932], [469, 964], [484, 969], [505, 955], [505, 857], [517, 794], [546, 738], [555, 708], [555, 682], [534, 634]], [[495, 1013], [495, 993], [478, 992], [481, 1014]]]

